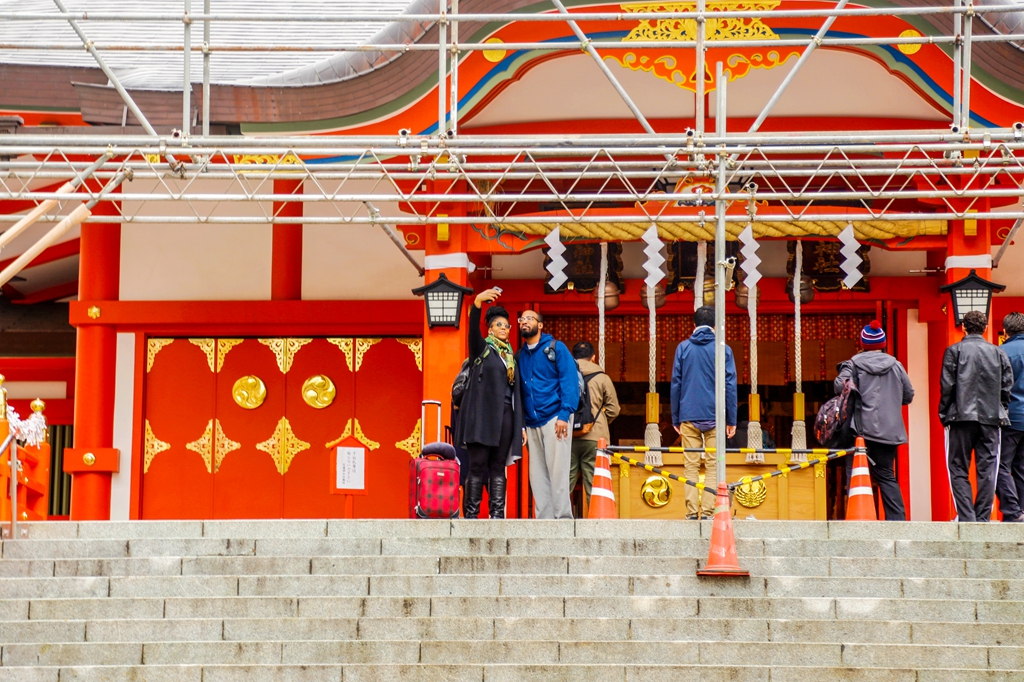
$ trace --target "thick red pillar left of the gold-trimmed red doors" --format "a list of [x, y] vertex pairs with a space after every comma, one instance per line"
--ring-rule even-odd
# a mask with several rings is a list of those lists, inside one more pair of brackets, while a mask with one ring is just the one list
[[[98, 186], [92, 186], [93, 189]], [[101, 202], [93, 216], [118, 215], [118, 204]], [[82, 224], [78, 298], [97, 308], [96, 323], [78, 329], [75, 361], [75, 446], [114, 445], [114, 383], [117, 332], [102, 324], [104, 301], [116, 301], [121, 284], [121, 224]], [[91, 316], [91, 315], [90, 315]], [[111, 517], [111, 472], [73, 473], [72, 520]]]

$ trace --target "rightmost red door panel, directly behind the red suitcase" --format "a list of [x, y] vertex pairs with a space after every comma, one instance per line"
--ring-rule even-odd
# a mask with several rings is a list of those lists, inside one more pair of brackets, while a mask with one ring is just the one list
[[355, 340], [353, 435], [367, 446], [367, 495], [356, 497], [357, 518], [409, 515], [409, 460], [419, 455], [420, 429], [436, 430], [434, 413], [420, 424], [423, 395], [421, 339]]

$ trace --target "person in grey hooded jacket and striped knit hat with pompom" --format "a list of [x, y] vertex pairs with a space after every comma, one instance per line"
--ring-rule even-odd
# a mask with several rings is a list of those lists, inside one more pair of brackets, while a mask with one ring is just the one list
[[[893, 463], [897, 445], [906, 442], [902, 407], [913, 399], [913, 387], [900, 361], [886, 352], [886, 332], [878, 319], [860, 331], [860, 347], [862, 352], [840, 364], [836, 393], [843, 391], [847, 379], [857, 386], [860, 400], [853, 415], [853, 430], [867, 445], [868, 471], [882, 494], [886, 520], [905, 521]], [[848, 457], [847, 482], [851, 466], [852, 458]]]

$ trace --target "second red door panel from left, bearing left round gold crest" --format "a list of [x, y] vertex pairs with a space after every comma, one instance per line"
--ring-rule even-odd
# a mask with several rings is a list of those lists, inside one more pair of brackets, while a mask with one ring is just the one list
[[295, 444], [285, 377], [297, 345], [295, 339], [218, 339], [223, 360], [215, 410], [224, 437], [214, 467], [214, 518], [282, 515], [285, 479], [279, 469], [287, 464], [283, 453]]

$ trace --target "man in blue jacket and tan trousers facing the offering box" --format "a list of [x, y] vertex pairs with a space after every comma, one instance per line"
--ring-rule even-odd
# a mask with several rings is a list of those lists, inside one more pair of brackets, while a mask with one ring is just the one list
[[[715, 446], [715, 308], [705, 305], [693, 313], [693, 334], [676, 348], [672, 364], [672, 425], [683, 447]], [[725, 347], [725, 433], [736, 433], [736, 363], [732, 349]], [[683, 455], [683, 473], [696, 480], [700, 471], [700, 454]], [[714, 515], [715, 491], [718, 484], [715, 458], [709, 457], [705, 471], [703, 499], [686, 485], [686, 518], [697, 519]]]

